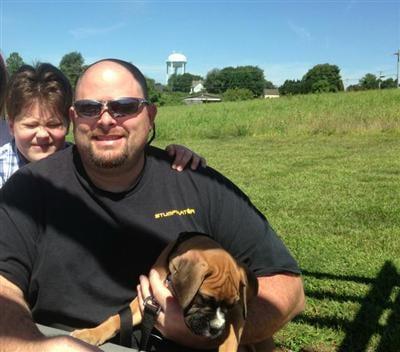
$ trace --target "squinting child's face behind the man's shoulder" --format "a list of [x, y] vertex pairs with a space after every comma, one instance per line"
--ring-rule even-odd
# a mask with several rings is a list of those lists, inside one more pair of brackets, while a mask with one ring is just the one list
[[10, 122], [10, 129], [20, 153], [29, 161], [36, 161], [53, 154], [64, 146], [67, 126], [61, 116], [54, 116], [38, 102], [22, 110]]

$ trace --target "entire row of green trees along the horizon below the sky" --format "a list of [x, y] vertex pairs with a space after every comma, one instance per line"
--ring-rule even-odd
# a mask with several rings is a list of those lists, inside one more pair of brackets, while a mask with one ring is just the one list
[[[22, 57], [13, 52], [6, 59], [7, 70], [13, 74], [24, 64]], [[79, 52], [64, 55], [59, 64], [60, 70], [68, 77], [73, 87], [80, 74], [85, 70], [84, 58]], [[166, 85], [146, 78], [149, 87], [149, 99], [160, 105], [170, 105], [181, 102], [189, 94], [193, 82], [202, 82], [204, 90], [218, 94], [224, 100], [245, 100], [262, 97], [264, 89], [276, 88], [272, 82], [265, 79], [264, 71], [257, 66], [225, 67], [212, 69], [202, 77], [191, 73], [172, 75]], [[367, 89], [396, 88], [397, 80], [388, 78], [382, 80], [372, 73], [367, 73], [358, 84], [347, 87], [348, 91]], [[286, 80], [280, 87], [281, 95], [340, 92], [344, 91], [340, 69], [336, 65], [319, 64], [312, 67], [301, 80]]]

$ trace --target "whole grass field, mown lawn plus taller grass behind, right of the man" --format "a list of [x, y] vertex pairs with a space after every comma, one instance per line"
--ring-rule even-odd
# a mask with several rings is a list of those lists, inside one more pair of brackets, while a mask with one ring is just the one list
[[238, 184], [298, 259], [293, 351], [400, 351], [400, 89], [163, 107], [185, 144]]

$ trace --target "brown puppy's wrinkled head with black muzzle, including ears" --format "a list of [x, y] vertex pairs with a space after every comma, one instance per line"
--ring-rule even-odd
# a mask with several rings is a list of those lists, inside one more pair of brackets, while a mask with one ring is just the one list
[[244, 269], [221, 250], [185, 253], [172, 260], [171, 269], [174, 294], [187, 326], [197, 335], [220, 336], [230, 311], [241, 301], [247, 284]]

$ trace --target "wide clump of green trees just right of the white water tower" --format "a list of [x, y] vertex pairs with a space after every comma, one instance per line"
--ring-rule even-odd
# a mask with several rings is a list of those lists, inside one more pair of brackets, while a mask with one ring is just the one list
[[243, 88], [261, 96], [265, 87], [264, 71], [257, 66], [225, 67], [207, 74], [204, 86], [209, 93], [221, 94], [227, 89]]

